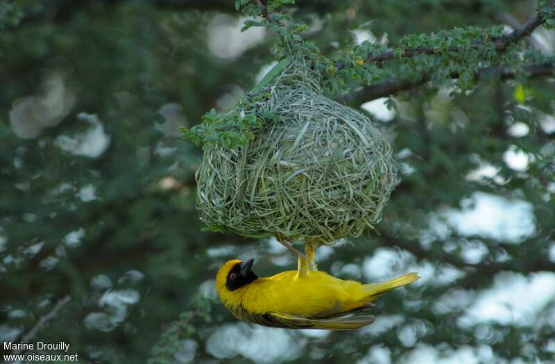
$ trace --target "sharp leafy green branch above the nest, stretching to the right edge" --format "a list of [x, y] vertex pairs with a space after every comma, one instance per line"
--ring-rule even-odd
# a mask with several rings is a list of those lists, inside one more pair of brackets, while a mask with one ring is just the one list
[[[243, 11], [246, 15], [263, 19], [262, 22], [246, 22], [246, 28], [266, 26], [281, 38], [278, 43], [291, 39], [309, 43], [303, 41], [298, 34], [299, 24], [287, 29], [282, 22], [275, 20], [275, 17], [284, 16], [282, 19], [291, 21], [289, 15], [273, 13], [284, 3], [294, 1], [237, 0], [236, 6], [245, 6]], [[456, 80], [456, 86], [464, 91], [474, 87], [484, 76], [500, 79], [546, 76], [553, 74], [552, 60], [525, 53], [534, 62], [523, 63], [520, 53], [527, 49], [524, 49], [520, 41], [538, 26], [552, 28], [555, 25], [554, 5], [553, 0], [540, 0], [536, 14], [506, 35], [502, 34], [502, 26], [488, 29], [454, 28], [432, 35], [407, 35], [402, 39], [400, 47], [394, 49], [386, 49], [382, 44], [363, 42], [355, 46], [343, 60], [327, 58], [319, 53], [317, 47], [312, 47], [314, 52], [306, 56], [314, 59], [313, 67], [321, 72], [325, 90], [332, 94], [339, 94], [345, 89], [350, 94], [352, 91], [349, 90], [356, 88], [357, 83], [364, 86], [363, 90], [356, 91], [354, 97], [343, 96], [343, 100], [362, 101], [388, 97], [404, 90], [412, 90], [429, 81], [441, 83]], [[300, 47], [296, 49], [302, 51]], [[386, 67], [385, 63], [388, 61], [397, 63]]]

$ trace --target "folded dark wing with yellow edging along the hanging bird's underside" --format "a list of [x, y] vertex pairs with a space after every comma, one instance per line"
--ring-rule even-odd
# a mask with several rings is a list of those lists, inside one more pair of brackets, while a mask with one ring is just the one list
[[286, 329], [322, 329], [322, 330], [355, 330], [374, 322], [372, 315], [359, 315], [351, 317], [326, 317], [311, 319], [298, 317], [282, 312], [268, 312], [264, 315], [268, 326], [284, 327]]

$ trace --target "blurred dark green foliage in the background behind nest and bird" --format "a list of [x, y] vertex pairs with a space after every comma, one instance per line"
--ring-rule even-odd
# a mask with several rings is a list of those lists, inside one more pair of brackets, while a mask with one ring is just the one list
[[[552, 1], [538, 4], [552, 27]], [[402, 317], [379, 335], [303, 336], [307, 343], [292, 361], [354, 362], [373, 347], [388, 348], [397, 361], [418, 343], [443, 354], [486, 345], [495, 361], [552, 360], [553, 300], [531, 324], [468, 327], [457, 324], [466, 306], [438, 311], [434, 304], [457, 297], [457, 289], [476, 297], [503, 272], [555, 270], [549, 258], [555, 140], [543, 126], [555, 113], [553, 77], [472, 76], [484, 65], [519, 69], [552, 61], [553, 54], [523, 41], [495, 54], [489, 49], [475, 57], [468, 49], [361, 67], [357, 60], [386, 47], [357, 44], [350, 33], [371, 31], [400, 53], [476, 39], [487, 48], [502, 19], [522, 24], [533, 16], [533, 1], [310, 0], [280, 10], [309, 25], [293, 26], [293, 33], [305, 51], [323, 57], [317, 64], [330, 96], [356, 94], [392, 75], [418, 80], [433, 70], [432, 85], [392, 94], [387, 102], [398, 110], [395, 118], [377, 122], [402, 164], [379, 235], [369, 232], [318, 262], [341, 278], [366, 280], [342, 268], [361, 267], [380, 249], [400, 251], [410, 264], [431, 269], [432, 279], [377, 302], [378, 317]], [[21, 340], [69, 295], [33, 340], [68, 342], [81, 363], [179, 363], [185, 343], [190, 361], [248, 362], [205, 349], [207, 338], [234, 322], [210, 295], [210, 279], [227, 258], [257, 256], [257, 273], [266, 275], [295, 267], [293, 257], [276, 254], [267, 240], [200, 231], [194, 172], [202, 151], [177, 131], [198, 124], [207, 110], [228, 110], [224, 99], [238, 101], [274, 59], [269, 49], [279, 54], [280, 43], [268, 33], [237, 56], [216, 56], [207, 42], [217, 30], [214, 19], [242, 23], [239, 16], [232, 1], [220, 0], [0, 2], [1, 340]], [[450, 79], [452, 71], [460, 72], [458, 81]], [[522, 90], [517, 98], [515, 89]], [[348, 98], [355, 107], [365, 101]], [[528, 133], [515, 136], [515, 124]], [[524, 153], [527, 168], [509, 167], [507, 151]], [[495, 167], [495, 176], [467, 178], [483, 163]], [[533, 233], [518, 244], [457, 231], [428, 234], [430, 217], [460, 208], [476, 192], [529, 202]], [[470, 243], [486, 254], [466, 259]], [[287, 256], [285, 266], [276, 263], [279, 256]], [[459, 278], [436, 281], [447, 268]], [[400, 340], [407, 328], [413, 342]]]

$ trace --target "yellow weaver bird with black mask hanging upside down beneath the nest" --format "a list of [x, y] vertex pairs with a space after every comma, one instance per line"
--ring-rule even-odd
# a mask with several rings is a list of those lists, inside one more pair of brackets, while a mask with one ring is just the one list
[[383, 283], [343, 281], [310, 267], [310, 258], [299, 259], [298, 270], [270, 277], [253, 272], [253, 259], [229, 260], [218, 271], [216, 291], [239, 320], [287, 329], [352, 330], [375, 317], [351, 314], [367, 311], [384, 292], [420, 278], [409, 273]]

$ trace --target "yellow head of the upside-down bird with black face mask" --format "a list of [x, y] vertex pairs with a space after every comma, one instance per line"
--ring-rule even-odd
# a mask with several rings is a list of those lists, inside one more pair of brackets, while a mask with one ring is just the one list
[[222, 301], [232, 292], [255, 281], [258, 276], [251, 270], [254, 259], [243, 262], [239, 259], [225, 262], [216, 276], [216, 292]]

